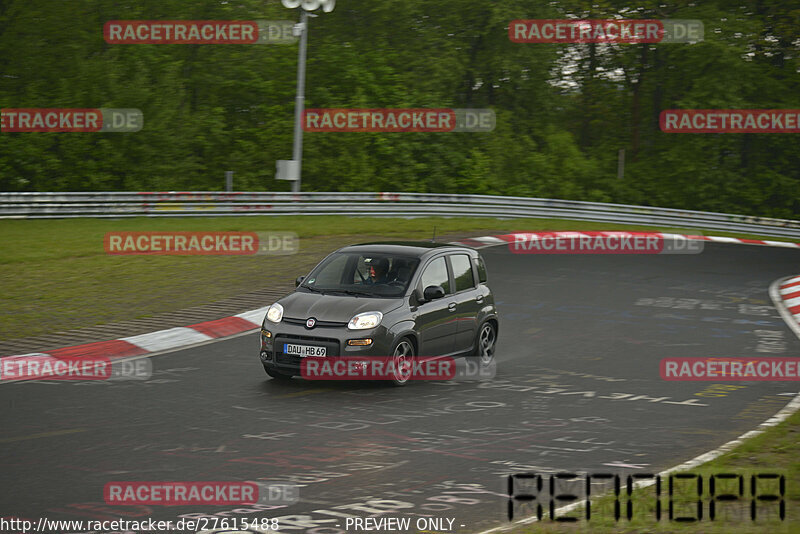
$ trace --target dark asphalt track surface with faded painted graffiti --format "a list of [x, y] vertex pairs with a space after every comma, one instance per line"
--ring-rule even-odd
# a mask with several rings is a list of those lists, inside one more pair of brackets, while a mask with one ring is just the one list
[[[411, 518], [413, 532], [424, 517], [479, 532], [508, 524], [510, 473], [655, 473], [753, 429], [796, 393], [792, 382], [666, 382], [659, 361], [800, 355], [767, 292], [797, 274], [797, 251], [482, 253], [501, 314], [495, 380], [283, 383], [264, 374], [250, 333], [155, 356], [147, 382], [5, 384], [0, 516], [278, 517], [281, 532], [335, 534], [348, 514], [382, 513]], [[300, 501], [103, 501], [107, 482], [187, 480], [296, 483]]]

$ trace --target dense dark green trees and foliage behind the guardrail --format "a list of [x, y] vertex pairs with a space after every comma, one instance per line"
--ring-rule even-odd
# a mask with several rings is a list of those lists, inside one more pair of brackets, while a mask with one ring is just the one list
[[[693, 18], [705, 41], [515, 44], [518, 18]], [[287, 190], [296, 45], [109, 45], [108, 20], [295, 19], [277, 0], [0, 0], [0, 107], [144, 112], [129, 134], [0, 133], [4, 191]], [[670, 108], [800, 108], [800, 7], [339, 0], [306, 106], [491, 107], [477, 133], [306, 133], [304, 191], [524, 195], [800, 216], [797, 134], [665, 134]], [[570, 71], [570, 72], [567, 72]], [[617, 152], [627, 153], [617, 178]]]

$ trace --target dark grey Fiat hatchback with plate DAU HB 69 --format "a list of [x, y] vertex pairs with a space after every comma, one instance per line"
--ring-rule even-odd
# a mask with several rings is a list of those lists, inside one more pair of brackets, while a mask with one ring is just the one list
[[[494, 364], [498, 316], [486, 266], [471, 248], [385, 242], [341, 248], [267, 310], [260, 358], [273, 378], [304, 358], [383, 357], [397, 385], [415, 358], [475, 356]], [[308, 363], [309, 360], [306, 360]]]

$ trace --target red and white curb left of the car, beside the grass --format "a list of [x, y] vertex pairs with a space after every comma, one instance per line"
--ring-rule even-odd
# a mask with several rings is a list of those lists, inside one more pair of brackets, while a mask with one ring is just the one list
[[175, 350], [213, 339], [255, 330], [261, 326], [261, 322], [268, 308], [269, 306], [265, 306], [256, 310], [239, 313], [232, 317], [224, 317], [222, 319], [197, 323], [191, 326], [168, 328], [166, 330], [159, 330], [158, 332], [150, 332], [138, 336], [75, 345], [51, 350], [47, 353], [35, 352], [18, 356], [6, 356], [0, 358], [0, 361], [6, 358], [18, 359], [31, 356], [42, 358], [50, 357], [53, 359], [106, 357], [115, 360]]

